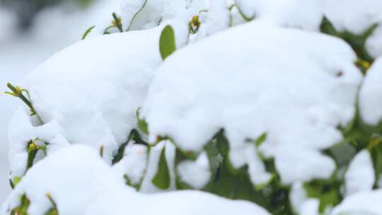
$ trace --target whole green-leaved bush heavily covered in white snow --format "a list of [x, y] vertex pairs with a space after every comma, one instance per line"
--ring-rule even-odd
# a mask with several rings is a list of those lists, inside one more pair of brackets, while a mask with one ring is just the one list
[[382, 214], [381, 10], [122, 1], [8, 83], [1, 213]]

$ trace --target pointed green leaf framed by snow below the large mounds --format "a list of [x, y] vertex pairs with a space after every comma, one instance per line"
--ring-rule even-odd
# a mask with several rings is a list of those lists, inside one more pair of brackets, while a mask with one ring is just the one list
[[170, 187], [170, 171], [168, 170], [168, 165], [166, 161], [166, 151], [165, 147], [163, 147], [161, 152], [161, 158], [158, 164], [158, 171], [154, 176], [153, 180], [151, 180], [156, 187], [166, 190]]

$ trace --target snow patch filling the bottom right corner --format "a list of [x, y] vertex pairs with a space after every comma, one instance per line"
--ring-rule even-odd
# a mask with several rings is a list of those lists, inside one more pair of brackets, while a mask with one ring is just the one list
[[330, 215], [378, 215], [382, 214], [382, 190], [359, 192], [347, 197]]

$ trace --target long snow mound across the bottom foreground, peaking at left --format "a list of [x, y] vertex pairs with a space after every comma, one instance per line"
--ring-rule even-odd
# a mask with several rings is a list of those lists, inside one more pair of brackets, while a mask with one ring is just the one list
[[[162, 144], [164, 145], [164, 144]], [[162, 146], [163, 147], [163, 146]], [[70, 158], [70, 159], [68, 159]], [[9, 214], [30, 199], [28, 213], [44, 214], [52, 208], [50, 193], [59, 214], [269, 214], [246, 201], [228, 200], [199, 191], [141, 194], [127, 187], [121, 177], [88, 146], [68, 146], [37, 163], [16, 186], [0, 214]], [[146, 207], [149, 206], [149, 207]]]

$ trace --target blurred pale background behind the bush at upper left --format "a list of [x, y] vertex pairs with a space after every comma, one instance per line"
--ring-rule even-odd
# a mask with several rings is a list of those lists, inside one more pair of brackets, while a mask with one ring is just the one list
[[100, 22], [102, 16], [98, 15], [110, 10], [110, 5], [115, 6], [110, 1], [113, 0], [98, 0], [86, 7], [68, 1], [43, 8], [36, 13], [29, 28], [27, 26], [28, 30], [25, 30], [25, 23], [21, 30], [20, 17], [15, 8], [12, 10], [9, 5], [0, 5], [0, 206], [11, 192], [8, 182], [8, 122], [13, 110], [23, 105], [3, 93], [7, 90], [6, 83], [17, 84], [52, 54], [81, 40], [87, 28]]

